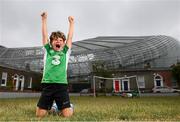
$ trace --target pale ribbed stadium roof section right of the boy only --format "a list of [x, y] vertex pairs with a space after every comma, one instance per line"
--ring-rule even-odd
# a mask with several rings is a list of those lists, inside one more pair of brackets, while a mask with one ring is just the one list
[[77, 54], [81, 52], [123, 47], [135, 41], [145, 40], [148, 37], [150, 36], [100, 36], [74, 42], [72, 52]]

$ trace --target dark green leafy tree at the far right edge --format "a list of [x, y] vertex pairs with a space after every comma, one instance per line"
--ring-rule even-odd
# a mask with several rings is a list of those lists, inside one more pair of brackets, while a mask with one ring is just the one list
[[172, 75], [177, 80], [177, 84], [180, 88], [180, 62], [172, 66]]

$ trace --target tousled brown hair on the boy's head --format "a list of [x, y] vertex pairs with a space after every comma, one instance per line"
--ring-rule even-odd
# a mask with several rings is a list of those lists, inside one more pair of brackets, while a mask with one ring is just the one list
[[61, 31], [56, 31], [56, 32], [52, 32], [51, 35], [50, 35], [50, 44], [52, 43], [52, 41], [54, 39], [57, 39], [57, 38], [62, 38], [63, 41], [66, 40], [66, 36], [63, 32]]

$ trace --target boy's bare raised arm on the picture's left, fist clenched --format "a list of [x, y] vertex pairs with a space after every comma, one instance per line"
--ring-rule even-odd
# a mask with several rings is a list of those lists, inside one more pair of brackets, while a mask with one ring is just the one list
[[45, 45], [48, 43], [48, 32], [47, 32], [47, 13], [43, 12], [42, 17], [42, 44]]

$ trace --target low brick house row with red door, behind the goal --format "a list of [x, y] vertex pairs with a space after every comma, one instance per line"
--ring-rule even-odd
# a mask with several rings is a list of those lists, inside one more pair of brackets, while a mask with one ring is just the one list
[[120, 91], [131, 91], [139, 88], [141, 92], [152, 92], [152, 88], [156, 86], [178, 87], [170, 68], [126, 69], [112, 73], [114, 79], [96, 79], [97, 91], [106, 88], [106, 91], [111, 92], [117, 86]]

